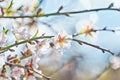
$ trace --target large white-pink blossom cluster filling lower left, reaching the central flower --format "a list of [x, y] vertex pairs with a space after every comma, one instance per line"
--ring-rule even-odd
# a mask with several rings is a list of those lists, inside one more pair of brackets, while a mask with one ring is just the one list
[[[5, 30], [7, 29], [4, 29], [1, 33], [1, 48], [4, 48], [4, 43], [7, 42], [7, 37], [5, 37], [7, 33], [4, 33]], [[15, 36], [16, 44], [37, 36], [37, 34], [31, 36], [23, 27], [19, 27], [19, 30], [13, 27], [11, 32]], [[41, 37], [44, 37], [44, 35], [41, 35]], [[0, 79], [36, 80], [37, 78], [42, 78], [42, 71], [39, 67], [40, 55], [44, 54], [48, 49], [61, 51], [62, 53], [62, 50], [70, 48], [70, 39], [72, 39], [72, 35], [62, 31], [50, 39], [28, 41], [25, 43], [24, 50], [21, 51], [21, 57], [18, 55], [8, 55], [7, 58], [5, 58], [5, 56], [1, 54]], [[11, 52], [15, 51], [14, 49], [9, 50]]]

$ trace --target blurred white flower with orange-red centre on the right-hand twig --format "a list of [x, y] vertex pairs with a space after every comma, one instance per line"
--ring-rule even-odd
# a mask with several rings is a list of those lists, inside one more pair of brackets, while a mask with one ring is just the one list
[[91, 41], [96, 42], [98, 38], [97, 35], [99, 32], [94, 32], [94, 30], [97, 30], [96, 24], [91, 20], [80, 20], [76, 23], [77, 34], [86, 36], [80, 36], [83, 39], [89, 37]]

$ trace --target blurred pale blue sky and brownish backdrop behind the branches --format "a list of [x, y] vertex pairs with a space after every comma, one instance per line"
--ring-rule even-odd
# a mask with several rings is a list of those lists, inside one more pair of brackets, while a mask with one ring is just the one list
[[[13, 9], [16, 9], [21, 5], [29, 6], [37, 0], [13, 1]], [[111, 3], [114, 3], [114, 8], [120, 8], [120, 0], [38, 0], [38, 2], [37, 8], [42, 8], [43, 13], [57, 12], [60, 6], [63, 6], [61, 12], [106, 8]], [[0, 6], [7, 6], [7, 4], [0, 3]], [[21, 21], [20, 19], [17, 20]], [[120, 29], [120, 12], [118, 11], [80, 13], [70, 15], [70, 17], [64, 15], [40, 17], [35, 20], [36, 24], [32, 25], [31, 34], [36, 31], [36, 27], [39, 29], [39, 35], [43, 33], [54, 35], [62, 30], [69, 34], [75, 34], [87, 23], [93, 24], [96, 28]], [[24, 23], [30, 21], [25, 19]], [[3, 27], [11, 29], [14, 25], [13, 20], [0, 19], [1, 30]], [[13, 42], [12, 36], [9, 34], [9, 42], [6, 44]], [[81, 35], [76, 38], [110, 49], [116, 54], [120, 52], [120, 35], [116, 33], [99, 32], [93, 37]], [[23, 49], [23, 47], [17, 48], [17, 51], [12, 54], [18, 54], [20, 49]], [[7, 52], [6, 56], [9, 54], [11, 53]], [[100, 50], [90, 46], [81, 46], [76, 42], [72, 42], [71, 48], [64, 50], [62, 55], [59, 51], [43, 54], [39, 65], [42, 72], [50, 76], [51, 80], [120, 80], [120, 70], [111, 69], [110, 57], [111, 54], [109, 53], [103, 54]]]

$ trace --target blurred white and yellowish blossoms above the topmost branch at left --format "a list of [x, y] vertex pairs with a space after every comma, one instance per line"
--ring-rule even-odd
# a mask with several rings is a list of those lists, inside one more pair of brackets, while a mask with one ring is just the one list
[[[36, 10], [37, 10], [37, 6], [39, 1], [38, 0], [32, 0], [31, 3], [25, 4], [28, 2], [24, 2], [23, 5], [17, 5], [20, 4], [20, 1], [14, 1], [11, 0], [11, 2], [9, 2], [9, 0], [3, 0], [1, 1], [1, 7], [0, 7], [0, 15], [2, 16], [13, 16], [13, 15], [33, 15], [33, 14], [37, 14]], [[18, 7], [16, 7], [16, 5]], [[42, 14], [42, 13], [40, 13]]]

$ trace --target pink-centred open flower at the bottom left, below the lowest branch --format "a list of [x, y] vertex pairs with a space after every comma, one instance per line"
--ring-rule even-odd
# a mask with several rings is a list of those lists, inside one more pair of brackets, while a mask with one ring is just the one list
[[[12, 69], [12, 76], [14, 78], [16, 78], [17, 80], [20, 78], [21, 75], [24, 75], [24, 69], [22, 68], [18, 68], [18, 67], [14, 67]], [[19, 79], [20, 80], [20, 79]]]

